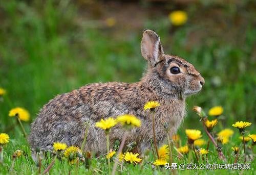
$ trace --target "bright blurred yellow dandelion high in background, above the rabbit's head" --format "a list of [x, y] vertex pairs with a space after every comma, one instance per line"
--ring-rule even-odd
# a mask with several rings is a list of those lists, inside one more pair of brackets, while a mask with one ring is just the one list
[[181, 10], [173, 11], [169, 14], [169, 20], [174, 26], [181, 26], [187, 21], [187, 13]]

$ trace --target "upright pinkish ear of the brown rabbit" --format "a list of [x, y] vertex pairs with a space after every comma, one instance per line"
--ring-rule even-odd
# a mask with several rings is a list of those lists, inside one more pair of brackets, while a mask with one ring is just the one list
[[163, 54], [160, 37], [157, 33], [148, 29], [144, 30], [140, 47], [142, 56], [151, 63], [152, 67], [155, 67]]

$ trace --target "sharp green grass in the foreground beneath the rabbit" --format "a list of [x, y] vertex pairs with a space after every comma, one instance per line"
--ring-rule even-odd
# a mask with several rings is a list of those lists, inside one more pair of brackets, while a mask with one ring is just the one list
[[[233, 138], [233, 140], [235, 140]], [[231, 143], [230, 145], [232, 145]], [[16, 149], [22, 149], [25, 152], [26, 156], [22, 156], [20, 158], [17, 158], [15, 161], [12, 159], [11, 155], [13, 154]], [[223, 162], [218, 159], [218, 156], [216, 155], [216, 152], [212, 146], [210, 147], [210, 153], [208, 154], [208, 161], [207, 163], [213, 164], [220, 164], [220, 163], [227, 163], [232, 164], [234, 162], [234, 156], [233, 153], [231, 153], [231, 150], [229, 147], [224, 146], [224, 154], [226, 155], [227, 161]], [[177, 153], [174, 152], [174, 155]], [[29, 149], [29, 146], [24, 139], [22, 134], [19, 134], [19, 136], [16, 136], [15, 139], [11, 139], [11, 142], [7, 144], [7, 146], [4, 146], [4, 164], [1, 165], [1, 172], [2, 174], [8, 174], [8, 173], [22, 173], [22, 174], [37, 174], [38, 173], [38, 167], [34, 163], [34, 161], [31, 158], [31, 152]], [[43, 160], [41, 169], [42, 171], [46, 169], [46, 167], [51, 163], [52, 156], [48, 154]], [[15, 162], [13, 165], [13, 169], [10, 170], [10, 167], [12, 165], [12, 162]], [[187, 159], [180, 160], [177, 157], [174, 157], [175, 163], [179, 164], [187, 164]], [[194, 160], [196, 163], [196, 161]], [[142, 169], [139, 164], [132, 165], [132, 164], [125, 164], [123, 168], [122, 174], [152, 174], [153, 172], [155, 174], [169, 174], [170, 170], [165, 170], [164, 168], [153, 168], [153, 156], [150, 155], [150, 158], [147, 159], [143, 163]], [[205, 160], [200, 160], [198, 164], [206, 164]], [[240, 158], [239, 163], [243, 163], [243, 157]], [[111, 161], [111, 165], [113, 166], [113, 161]], [[104, 156], [100, 158], [92, 158], [90, 159], [90, 166], [89, 168], [86, 167], [83, 163], [80, 163], [77, 167], [76, 165], [69, 165], [68, 161], [66, 160], [57, 160], [54, 164], [54, 166], [50, 169], [50, 174], [59, 174], [60, 172], [62, 174], [68, 174], [69, 171], [71, 171], [72, 174], [81, 174], [81, 173], [88, 173], [88, 174], [95, 174], [96, 172], [102, 173], [102, 174], [108, 174], [108, 163]], [[250, 170], [179, 170], [178, 173], [182, 174], [217, 174], [217, 173], [244, 173], [244, 174], [254, 174], [255, 172], [255, 161], [251, 162], [251, 169]]]

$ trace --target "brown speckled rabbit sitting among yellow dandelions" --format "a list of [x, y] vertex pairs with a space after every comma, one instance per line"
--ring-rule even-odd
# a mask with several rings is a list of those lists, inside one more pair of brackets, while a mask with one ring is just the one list
[[[32, 148], [51, 150], [54, 142], [81, 146], [85, 127], [89, 121], [85, 150], [103, 154], [106, 152], [104, 131], [95, 127], [101, 118], [133, 114], [141, 120], [141, 127], [130, 131], [126, 141], [136, 141], [137, 151], [143, 153], [151, 146], [153, 138], [152, 115], [144, 111], [148, 101], [158, 101], [156, 108], [156, 141], [161, 144], [166, 134], [167, 122], [170, 135], [176, 133], [185, 115], [185, 98], [202, 89], [204, 79], [193, 65], [180, 57], [165, 55], [159, 36], [152, 30], [144, 30], [141, 54], [148, 68], [140, 82], [95, 83], [78, 90], [56, 96], [46, 104], [31, 124], [29, 142]], [[110, 132], [110, 142], [121, 140], [124, 130], [115, 126]]]

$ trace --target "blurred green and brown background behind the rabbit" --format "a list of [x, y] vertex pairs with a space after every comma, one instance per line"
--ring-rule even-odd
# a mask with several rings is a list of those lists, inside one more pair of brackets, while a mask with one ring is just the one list
[[[170, 22], [174, 10], [187, 13], [183, 26]], [[181, 129], [198, 123], [194, 105], [223, 106], [224, 127], [255, 122], [255, 16], [256, 2], [249, 0], [1, 1], [0, 87], [7, 95], [0, 130], [14, 122], [13, 107], [28, 109], [34, 119], [57, 94], [93, 82], [139, 81], [145, 28], [160, 35], [165, 53], [183, 57], [205, 78], [203, 90], [187, 99]]]

